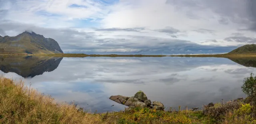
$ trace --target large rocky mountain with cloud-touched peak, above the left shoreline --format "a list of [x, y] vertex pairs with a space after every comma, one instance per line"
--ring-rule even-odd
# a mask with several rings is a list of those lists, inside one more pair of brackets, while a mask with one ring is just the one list
[[0, 52], [54, 54], [63, 53], [59, 44], [51, 38], [45, 38], [32, 31], [25, 31], [15, 37], [0, 36]]

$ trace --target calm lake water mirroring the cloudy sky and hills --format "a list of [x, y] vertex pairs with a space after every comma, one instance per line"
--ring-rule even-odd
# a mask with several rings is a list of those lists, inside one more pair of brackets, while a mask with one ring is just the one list
[[202, 107], [244, 97], [240, 87], [254, 67], [256, 58], [0, 57], [0, 74], [24, 79], [56, 101], [75, 101], [91, 112], [122, 110], [124, 105], [108, 98], [139, 90], [166, 107]]

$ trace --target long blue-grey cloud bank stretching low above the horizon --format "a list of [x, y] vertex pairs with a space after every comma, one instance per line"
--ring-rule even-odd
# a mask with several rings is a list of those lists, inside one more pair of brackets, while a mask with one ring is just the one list
[[186, 40], [150, 36], [115, 35], [114, 37], [100, 37], [98, 33], [94, 32], [42, 28], [19, 23], [0, 23], [0, 27], [7, 32], [12, 32], [12, 35], [18, 35], [25, 30], [33, 29], [35, 33], [55, 39], [66, 53], [178, 54], [186, 53], [185, 51], [197, 53], [198, 50], [207, 51], [208, 49], [229, 52], [236, 48], [235, 46], [199, 45]]

